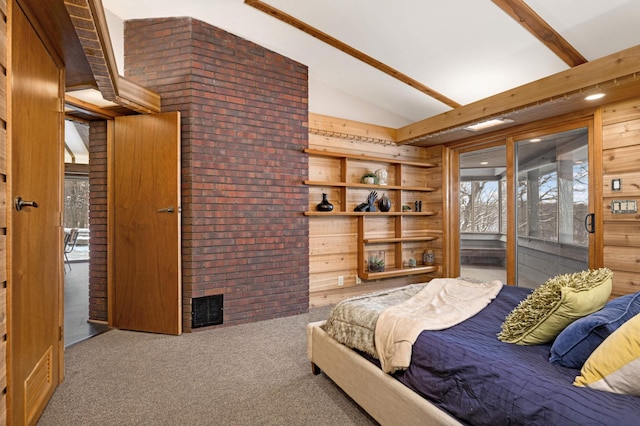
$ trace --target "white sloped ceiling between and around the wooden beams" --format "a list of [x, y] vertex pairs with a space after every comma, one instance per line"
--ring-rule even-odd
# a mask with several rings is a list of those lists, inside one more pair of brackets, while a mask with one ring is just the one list
[[[451, 109], [243, 0], [102, 3], [121, 74], [120, 20], [189, 16], [307, 65], [311, 112], [398, 128]], [[569, 68], [490, 0], [264, 3], [462, 105]], [[526, 3], [588, 61], [640, 44], [640, 0]]]

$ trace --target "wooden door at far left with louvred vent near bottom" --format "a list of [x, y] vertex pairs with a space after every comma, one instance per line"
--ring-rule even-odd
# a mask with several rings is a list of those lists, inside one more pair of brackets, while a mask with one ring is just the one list
[[[62, 71], [15, 4], [11, 18], [17, 47], [10, 79], [7, 396], [9, 423], [22, 425], [37, 421], [63, 375], [63, 86]], [[27, 203], [19, 211], [17, 197]]]

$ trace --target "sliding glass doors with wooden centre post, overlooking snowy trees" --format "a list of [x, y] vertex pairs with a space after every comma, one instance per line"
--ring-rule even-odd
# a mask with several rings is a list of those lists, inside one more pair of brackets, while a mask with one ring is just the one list
[[589, 127], [507, 137], [458, 158], [461, 276], [536, 288], [589, 268]]

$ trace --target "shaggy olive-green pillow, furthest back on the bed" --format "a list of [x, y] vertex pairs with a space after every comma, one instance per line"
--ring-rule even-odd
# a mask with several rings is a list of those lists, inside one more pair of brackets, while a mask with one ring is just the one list
[[498, 339], [518, 345], [552, 341], [573, 321], [607, 303], [612, 276], [610, 269], [600, 268], [549, 278], [507, 315]]

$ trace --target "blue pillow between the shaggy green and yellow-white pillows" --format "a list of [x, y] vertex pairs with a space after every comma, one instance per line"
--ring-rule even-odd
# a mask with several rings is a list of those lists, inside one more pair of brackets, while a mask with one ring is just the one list
[[589, 355], [622, 324], [640, 313], [640, 292], [608, 302], [602, 309], [569, 324], [551, 346], [549, 361], [582, 368]]

